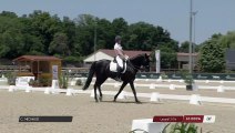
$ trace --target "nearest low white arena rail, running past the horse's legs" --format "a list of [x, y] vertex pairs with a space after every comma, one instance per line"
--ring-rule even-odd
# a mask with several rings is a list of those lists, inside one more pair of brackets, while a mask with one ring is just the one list
[[[82, 90], [73, 90], [73, 89], [52, 89], [52, 88], [19, 88], [16, 85], [10, 86], [1, 86], [0, 89], [8, 89], [9, 92], [24, 90], [25, 92], [41, 91], [45, 94], [57, 94], [57, 93], [65, 93], [65, 95], [75, 95], [75, 94], [91, 94], [93, 96], [94, 91], [82, 91]], [[115, 95], [116, 91], [102, 91], [104, 95]], [[99, 93], [98, 93], [99, 94]], [[235, 99], [228, 98], [211, 98], [211, 96], [201, 96], [198, 94], [192, 95], [176, 95], [176, 94], [160, 94], [159, 92], [153, 93], [136, 93], [139, 98], [150, 99], [150, 102], [160, 102], [161, 100], [177, 100], [177, 101], [188, 101], [190, 104], [200, 105], [203, 102], [213, 102], [213, 103], [229, 103], [235, 104]], [[134, 96], [132, 92], [123, 91], [119, 99], [127, 99]]]

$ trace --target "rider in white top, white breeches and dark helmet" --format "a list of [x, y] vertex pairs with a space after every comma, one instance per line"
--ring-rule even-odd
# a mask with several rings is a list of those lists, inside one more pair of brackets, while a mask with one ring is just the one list
[[116, 62], [117, 62], [117, 76], [115, 80], [117, 81], [122, 81], [121, 80], [121, 71], [123, 71], [124, 69], [124, 62], [126, 61], [126, 59], [129, 58], [124, 51], [122, 50], [122, 45], [121, 45], [121, 37], [120, 35], [116, 35], [115, 37], [115, 44], [114, 44], [114, 51], [115, 51], [115, 54], [116, 54]]

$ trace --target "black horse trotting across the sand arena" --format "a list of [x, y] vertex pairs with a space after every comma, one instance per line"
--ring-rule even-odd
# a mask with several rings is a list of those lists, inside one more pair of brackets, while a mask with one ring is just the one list
[[[104, 81], [108, 78], [114, 79], [115, 72], [110, 71], [110, 60], [99, 60], [99, 61], [94, 61], [91, 64], [91, 68], [89, 70], [89, 75], [88, 79], [85, 81], [84, 86], [82, 88], [82, 90], [88, 90], [93, 75], [96, 75], [96, 80], [94, 83], [94, 99], [95, 102], [99, 102], [98, 96], [96, 96], [96, 89], [100, 92], [100, 101], [102, 101], [102, 92], [101, 92], [101, 85], [102, 83], [104, 83]], [[136, 103], [141, 103], [137, 100], [136, 96], [136, 91], [134, 88], [134, 80], [135, 80], [135, 74], [137, 73], [139, 70], [144, 69], [145, 71], [150, 70], [150, 55], [146, 53], [142, 53], [139, 54], [136, 57], [130, 58], [126, 60], [126, 71], [124, 73], [121, 74], [121, 80], [122, 80], [122, 85], [119, 90], [119, 92], [116, 93], [116, 95], [114, 96], [113, 102], [116, 102], [116, 98], [119, 96], [119, 94], [123, 91], [123, 89], [125, 88], [125, 85], [129, 83], [132, 92], [134, 94], [134, 99]]]

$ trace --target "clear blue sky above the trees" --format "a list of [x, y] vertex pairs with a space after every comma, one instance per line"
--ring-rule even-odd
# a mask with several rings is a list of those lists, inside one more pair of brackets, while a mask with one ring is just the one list
[[[193, 0], [195, 42], [235, 31], [234, 7], [235, 0]], [[3, 10], [18, 16], [42, 10], [70, 19], [83, 13], [110, 21], [122, 17], [129, 24], [144, 21], [163, 27], [178, 42], [190, 39], [190, 0], [0, 0]]]

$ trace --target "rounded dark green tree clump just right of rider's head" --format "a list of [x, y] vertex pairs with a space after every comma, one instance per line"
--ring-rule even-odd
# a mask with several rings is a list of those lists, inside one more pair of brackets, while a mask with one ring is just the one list
[[170, 33], [161, 27], [146, 22], [133, 23], [129, 27], [126, 34], [126, 49], [130, 50], [153, 50], [161, 45], [177, 51], [177, 42], [170, 38]]

